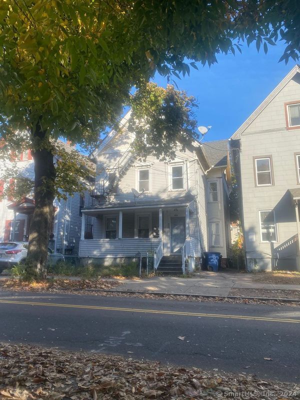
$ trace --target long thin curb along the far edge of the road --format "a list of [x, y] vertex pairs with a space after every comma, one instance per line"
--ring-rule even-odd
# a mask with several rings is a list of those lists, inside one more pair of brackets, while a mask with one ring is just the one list
[[[62, 288], [63, 290], [69, 290], [66, 288]], [[125, 294], [154, 294], [157, 297], [163, 295], [172, 295], [172, 296], [185, 296], [185, 297], [205, 297], [205, 298], [232, 298], [232, 299], [246, 299], [246, 300], [270, 300], [270, 301], [283, 301], [283, 302], [298, 302], [300, 303], [299, 298], [274, 298], [274, 297], [250, 297], [250, 296], [224, 296], [224, 295], [215, 295], [215, 294], [191, 294], [191, 293], [165, 293], [163, 291], [141, 291], [141, 290], [113, 290], [113, 289], [73, 289], [74, 291], [99, 291], [104, 293], [125, 293]]]

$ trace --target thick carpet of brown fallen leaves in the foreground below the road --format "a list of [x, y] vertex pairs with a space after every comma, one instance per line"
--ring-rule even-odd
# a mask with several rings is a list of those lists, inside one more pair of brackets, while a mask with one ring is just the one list
[[[293, 383], [254, 375], [207, 372], [118, 356], [61, 351], [24, 344], [0, 344], [2, 400], [216, 400], [220, 393], [249, 392], [243, 399], [279, 400], [280, 392], [299, 398]], [[265, 393], [271, 393], [265, 395]]]

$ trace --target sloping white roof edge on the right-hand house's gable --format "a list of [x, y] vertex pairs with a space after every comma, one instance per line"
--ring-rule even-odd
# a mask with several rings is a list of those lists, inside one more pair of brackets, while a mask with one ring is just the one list
[[251, 113], [251, 115], [243, 122], [243, 124], [233, 133], [230, 139], [239, 139], [244, 130], [254, 121], [261, 111], [273, 100], [280, 90], [297, 74], [300, 72], [300, 66], [296, 64], [281, 82], [270, 92], [270, 94], [258, 105], [258, 107]]

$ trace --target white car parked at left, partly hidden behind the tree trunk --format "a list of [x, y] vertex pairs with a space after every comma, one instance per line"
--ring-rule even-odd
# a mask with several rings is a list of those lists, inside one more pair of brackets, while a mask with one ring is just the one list
[[[28, 242], [26, 241], [0, 242], [0, 273], [3, 269], [24, 262], [27, 256], [27, 247]], [[64, 261], [64, 256], [61, 253], [54, 253], [48, 247], [48, 261], [50, 264], [55, 264], [58, 261]]]

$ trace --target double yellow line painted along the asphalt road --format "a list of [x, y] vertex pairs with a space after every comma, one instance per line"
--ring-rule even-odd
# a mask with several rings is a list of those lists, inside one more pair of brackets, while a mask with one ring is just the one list
[[97, 310], [109, 310], [109, 311], [126, 311], [126, 312], [145, 312], [152, 314], [168, 314], [168, 315], [183, 315], [183, 316], [204, 316], [213, 318], [231, 318], [231, 319], [248, 319], [256, 321], [268, 321], [268, 322], [291, 322], [300, 323], [300, 319], [289, 319], [289, 318], [271, 318], [264, 316], [250, 316], [250, 315], [227, 315], [227, 314], [212, 314], [203, 312], [185, 312], [185, 311], [166, 311], [158, 309], [143, 309], [143, 308], [122, 308], [122, 307], [106, 307], [98, 305], [80, 305], [80, 304], [60, 304], [60, 303], [43, 303], [34, 301], [14, 301], [14, 300], [0, 300], [0, 303], [5, 304], [25, 304], [25, 305], [44, 305], [49, 307], [63, 307], [63, 308], [84, 308], [84, 309], [97, 309]]

